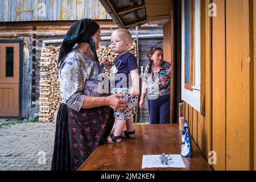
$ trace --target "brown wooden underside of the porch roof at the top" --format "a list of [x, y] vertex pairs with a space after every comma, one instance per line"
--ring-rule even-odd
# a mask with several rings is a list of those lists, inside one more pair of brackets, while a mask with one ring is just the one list
[[170, 19], [173, 0], [100, 0], [119, 28], [164, 24]]

